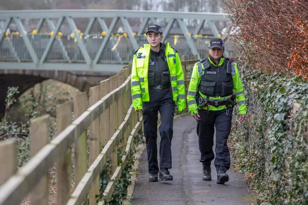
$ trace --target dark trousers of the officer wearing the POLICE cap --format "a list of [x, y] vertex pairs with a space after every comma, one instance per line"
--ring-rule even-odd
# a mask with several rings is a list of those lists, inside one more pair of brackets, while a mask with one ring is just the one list
[[[214, 127], [216, 128], [216, 157], [214, 165], [216, 170], [230, 168], [230, 152], [227, 140], [231, 131], [233, 108], [229, 112], [198, 110], [200, 119], [197, 120], [197, 135], [199, 137], [200, 162], [210, 165], [214, 159]], [[228, 114], [228, 115], [227, 115]]]

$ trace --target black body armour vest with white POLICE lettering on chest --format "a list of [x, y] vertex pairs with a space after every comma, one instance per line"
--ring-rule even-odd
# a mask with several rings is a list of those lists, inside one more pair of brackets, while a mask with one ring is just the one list
[[[225, 59], [221, 66], [214, 66], [207, 59], [202, 63], [205, 70], [199, 84], [200, 92], [211, 97], [232, 95], [233, 80], [231, 75], [231, 62]], [[198, 64], [199, 67], [201, 67], [201, 63]]]

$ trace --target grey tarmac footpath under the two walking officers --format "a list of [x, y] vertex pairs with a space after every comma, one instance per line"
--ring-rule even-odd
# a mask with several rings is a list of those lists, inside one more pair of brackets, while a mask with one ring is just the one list
[[[232, 168], [227, 171], [229, 181], [224, 185], [216, 184], [217, 172], [212, 162], [212, 181], [203, 181], [196, 121], [184, 115], [174, 120], [173, 127], [172, 169], [169, 170], [173, 181], [148, 181], [145, 150], [140, 159], [132, 205], [248, 205], [254, 199], [248, 193], [245, 176]], [[158, 132], [157, 147], [159, 142]]]

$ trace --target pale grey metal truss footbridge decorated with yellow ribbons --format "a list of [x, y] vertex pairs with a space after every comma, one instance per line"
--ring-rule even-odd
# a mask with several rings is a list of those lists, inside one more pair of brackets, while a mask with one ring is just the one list
[[[209, 39], [224, 38], [225, 13], [140, 10], [0, 11], [0, 69], [121, 70], [144, 43], [146, 27], [163, 27], [163, 42], [202, 58]], [[228, 45], [226, 54], [229, 55]]]

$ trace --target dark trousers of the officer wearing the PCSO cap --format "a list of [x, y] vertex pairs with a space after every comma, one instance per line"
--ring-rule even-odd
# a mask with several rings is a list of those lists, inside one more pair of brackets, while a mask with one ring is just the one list
[[[173, 117], [175, 102], [169, 88], [149, 88], [150, 101], [143, 102], [143, 124], [148, 153], [148, 171], [158, 174], [159, 168], [172, 168], [171, 140], [173, 135]], [[157, 162], [157, 118], [160, 112], [160, 167]]]

